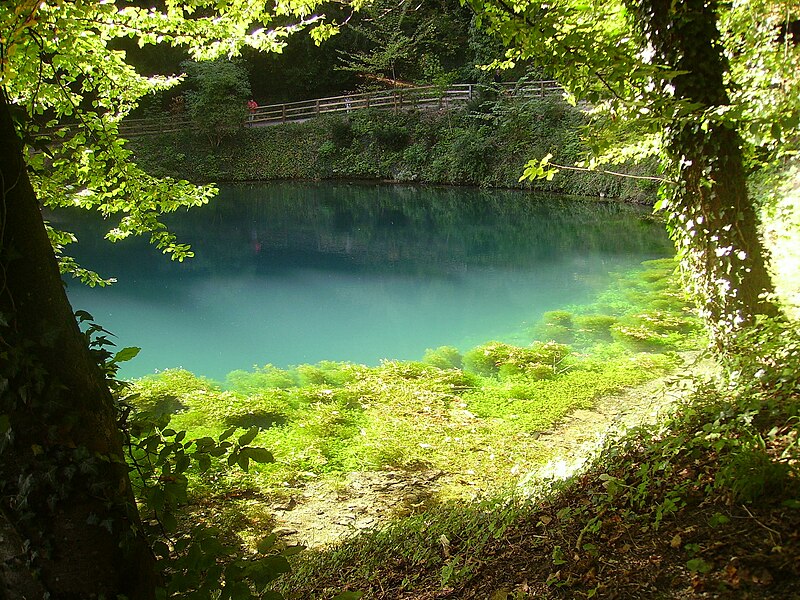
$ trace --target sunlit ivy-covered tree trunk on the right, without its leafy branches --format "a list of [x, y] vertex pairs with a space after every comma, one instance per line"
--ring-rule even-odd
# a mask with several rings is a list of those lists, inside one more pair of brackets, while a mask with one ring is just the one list
[[[665, 208], [701, 310], [721, 348], [756, 315], [776, 314], [758, 214], [748, 195], [735, 123], [709, 114], [729, 102], [717, 5], [709, 0], [642, 0], [635, 5], [655, 60], [678, 71], [667, 131], [673, 179]], [[679, 110], [690, 111], [689, 115]]]

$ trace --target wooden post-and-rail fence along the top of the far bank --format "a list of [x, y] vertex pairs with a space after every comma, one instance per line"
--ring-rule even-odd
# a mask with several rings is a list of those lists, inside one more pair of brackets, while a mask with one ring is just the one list
[[[481, 86], [471, 83], [452, 85], [447, 88], [422, 86], [396, 88], [380, 92], [347, 94], [269, 104], [252, 110], [247, 117], [249, 127], [264, 127], [282, 123], [306, 121], [323, 114], [350, 113], [367, 108], [378, 110], [450, 110], [471, 102], [487, 92], [500, 92], [519, 98], [545, 97], [562, 93], [563, 89], [555, 81], [533, 81], [526, 83], [506, 83], [495, 86]], [[191, 129], [192, 123], [185, 116], [125, 119], [120, 125], [123, 137], [155, 135]]]

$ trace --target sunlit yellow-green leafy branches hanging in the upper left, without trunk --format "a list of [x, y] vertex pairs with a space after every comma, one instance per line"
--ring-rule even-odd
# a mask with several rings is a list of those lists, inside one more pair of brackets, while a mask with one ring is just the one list
[[[182, 46], [196, 60], [235, 57], [245, 46], [280, 51], [296, 31], [306, 29], [317, 41], [335, 31], [314, 14], [319, 4], [168, 0], [157, 9], [113, 1], [3, 3], [0, 86], [13, 106], [40, 201], [48, 208], [120, 215], [110, 240], [148, 233], [164, 253], [179, 260], [191, 256], [159, 215], [203, 204], [214, 188], [151, 177], [134, 164], [119, 136], [120, 122], [143, 97], [180, 77], [140, 75], [115, 49], [116, 41]], [[54, 241], [60, 251], [71, 237]], [[74, 261], [62, 265], [99, 282]]]

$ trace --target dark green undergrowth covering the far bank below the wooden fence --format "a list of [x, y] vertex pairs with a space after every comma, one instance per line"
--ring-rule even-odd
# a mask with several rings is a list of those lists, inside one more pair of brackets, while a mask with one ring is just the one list
[[[501, 97], [458, 111], [361, 110], [248, 128], [215, 148], [191, 131], [129, 144], [149, 172], [192, 181], [379, 179], [652, 202], [652, 183], [600, 173], [565, 171], [553, 181], [520, 182], [533, 156], [578, 161], [586, 123], [583, 112], [559, 97]], [[627, 168], [644, 172], [653, 165]]]

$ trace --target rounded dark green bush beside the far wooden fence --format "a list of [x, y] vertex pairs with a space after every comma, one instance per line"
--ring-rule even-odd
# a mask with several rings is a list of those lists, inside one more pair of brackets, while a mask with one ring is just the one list
[[181, 63], [186, 73], [186, 111], [216, 147], [244, 127], [250, 82], [247, 71], [229, 60]]

